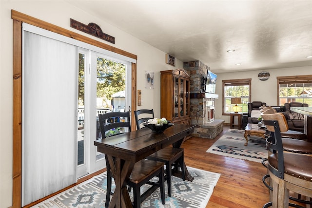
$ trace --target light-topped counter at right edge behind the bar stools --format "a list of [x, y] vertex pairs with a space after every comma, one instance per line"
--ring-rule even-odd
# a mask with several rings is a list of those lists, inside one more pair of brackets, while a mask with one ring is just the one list
[[304, 115], [304, 133], [312, 142], [312, 107], [291, 107], [291, 111]]

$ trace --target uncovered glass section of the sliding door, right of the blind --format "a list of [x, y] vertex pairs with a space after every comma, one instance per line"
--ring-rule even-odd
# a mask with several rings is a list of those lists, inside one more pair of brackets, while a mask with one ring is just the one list
[[[98, 114], [129, 111], [127, 84], [131, 64], [102, 53], [79, 50], [78, 73], [78, 178], [106, 167], [94, 141], [101, 139]], [[131, 79], [130, 79], [131, 80]], [[127, 95], [127, 96], [126, 96]]]

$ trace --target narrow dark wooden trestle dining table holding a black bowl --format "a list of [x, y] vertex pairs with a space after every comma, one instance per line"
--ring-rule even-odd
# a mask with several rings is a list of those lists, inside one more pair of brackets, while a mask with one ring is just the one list
[[[160, 133], [142, 128], [95, 141], [94, 145], [98, 147], [98, 151], [105, 153], [108, 158], [116, 184], [109, 208], [132, 208], [126, 184], [135, 163], [169, 145], [180, 148], [184, 139], [194, 132], [194, 128], [193, 125], [174, 124]], [[190, 175], [186, 165], [183, 166], [185, 179], [193, 181], [194, 177]], [[182, 177], [181, 172], [173, 174]]]

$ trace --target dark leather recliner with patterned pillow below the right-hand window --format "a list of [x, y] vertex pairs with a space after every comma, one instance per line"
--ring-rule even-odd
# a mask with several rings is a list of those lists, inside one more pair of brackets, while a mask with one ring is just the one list
[[286, 117], [288, 128], [293, 131], [303, 132], [304, 130], [303, 115], [292, 112], [291, 107], [309, 107], [309, 104], [300, 102], [290, 102], [284, 104], [285, 113], [283, 114]]

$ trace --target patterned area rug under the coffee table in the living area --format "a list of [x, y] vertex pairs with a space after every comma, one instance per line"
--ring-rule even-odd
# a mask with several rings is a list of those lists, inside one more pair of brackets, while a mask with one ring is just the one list
[[268, 158], [266, 140], [248, 136], [248, 145], [244, 146], [244, 133], [244, 130], [229, 129], [206, 152], [255, 162]]

